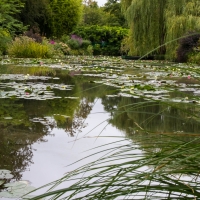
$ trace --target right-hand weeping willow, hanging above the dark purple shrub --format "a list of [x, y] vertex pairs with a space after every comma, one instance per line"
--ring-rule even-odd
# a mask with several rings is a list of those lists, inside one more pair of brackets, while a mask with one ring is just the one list
[[[168, 0], [165, 12], [166, 42], [200, 31], [199, 0]], [[174, 59], [178, 40], [166, 46], [166, 58]]]

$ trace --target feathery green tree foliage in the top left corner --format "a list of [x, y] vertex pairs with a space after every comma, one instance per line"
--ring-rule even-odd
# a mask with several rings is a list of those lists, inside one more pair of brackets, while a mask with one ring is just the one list
[[23, 3], [20, 0], [0, 1], [0, 26], [9, 31], [11, 35], [23, 32], [26, 28], [13, 16], [20, 12]]

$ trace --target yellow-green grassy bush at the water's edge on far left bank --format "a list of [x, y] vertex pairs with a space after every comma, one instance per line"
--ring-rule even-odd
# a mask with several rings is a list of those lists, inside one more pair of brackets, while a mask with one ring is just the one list
[[8, 53], [18, 58], [50, 58], [53, 56], [53, 47], [48, 41], [40, 44], [32, 38], [20, 36], [9, 45]]

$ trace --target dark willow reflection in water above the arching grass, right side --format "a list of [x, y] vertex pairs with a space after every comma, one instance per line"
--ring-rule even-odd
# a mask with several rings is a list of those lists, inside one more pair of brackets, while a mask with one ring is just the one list
[[[105, 109], [113, 113], [110, 123], [127, 134], [144, 130], [154, 133], [193, 133], [199, 131], [198, 109], [191, 104], [163, 103], [120, 97], [105, 98]], [[116, 109], [112, 109], [116, 108]]]

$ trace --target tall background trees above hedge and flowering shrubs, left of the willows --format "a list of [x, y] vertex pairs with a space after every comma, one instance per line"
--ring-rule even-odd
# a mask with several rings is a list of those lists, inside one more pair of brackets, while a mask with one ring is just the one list
[[0, 27], [12, 34], [34, 29], [60, 38], [77, 25], [126, 26], [118, 0], [108, 0], [104, 7], [92, 0], [2, 0], [0, 11]]

